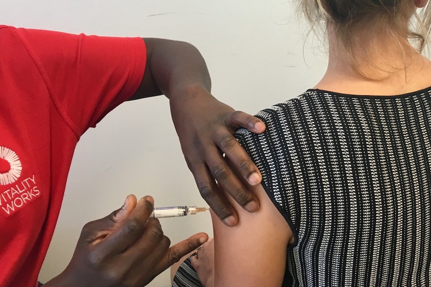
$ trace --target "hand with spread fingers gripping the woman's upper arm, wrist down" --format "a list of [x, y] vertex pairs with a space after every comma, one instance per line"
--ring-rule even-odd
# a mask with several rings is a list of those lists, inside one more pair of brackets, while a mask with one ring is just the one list
[[[202, 197], [224, 224], [234, 226], [236, 213], [220, 190], [225, 190], [244, 209], [257, 211], [256, 197], [247, 192], [249, 189], [239, 177], [246, 180], [245, 184], [258, 185], [261, 175], [232, 134], [240, 127], [261, 133], [265, 126], [259, 119], [219, 102], [204, 88], [183, 92], [170, 99], [170, 107], [185, 160]], [[226, 164], [223, 153], [232, 168]]]

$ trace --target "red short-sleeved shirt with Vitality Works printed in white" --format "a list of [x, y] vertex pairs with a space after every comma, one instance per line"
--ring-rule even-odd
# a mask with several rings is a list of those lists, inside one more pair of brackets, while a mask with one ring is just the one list
[[0, 286], [34, 286], [79, 137], [137, 89], [141, 38], [0, 26]]

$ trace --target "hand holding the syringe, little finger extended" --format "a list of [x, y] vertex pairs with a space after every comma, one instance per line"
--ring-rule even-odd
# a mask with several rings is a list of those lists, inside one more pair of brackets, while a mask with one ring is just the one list
[[152, 211], [151, 197], [136, 203], [130, 195], [122, 208], [87, 223], [67, 268], [44, 287], [142, 287], [208, 239], [200, 233], [169, 248], [158, 220], [148, 220]]

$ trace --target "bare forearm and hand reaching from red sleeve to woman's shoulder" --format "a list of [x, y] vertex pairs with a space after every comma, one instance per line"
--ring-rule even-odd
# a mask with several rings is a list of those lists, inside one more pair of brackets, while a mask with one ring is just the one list
[[201, 196], [225, 225], [234, 226], [238, 222], [236, 212], [221, 190], [245, 210], [254, 212], [259, 203], [241, 180], [245, 178], [248, 185], [257, 186], [262, 178], [232, 134], [240, 127], [262, 133], [265, 125], [211, 95], [208, 69], [194, 46], [166, 39], [144, 38], [144, 41], [145, 72], [130, 100], [160, 94], [169, 99], [182, 152]]

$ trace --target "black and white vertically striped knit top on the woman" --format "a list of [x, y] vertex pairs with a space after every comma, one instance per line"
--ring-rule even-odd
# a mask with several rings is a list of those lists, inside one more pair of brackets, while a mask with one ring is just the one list
[[295, 242], [293, 286], [430, 286], [431, 88], [308, 90], [236, 137]]

